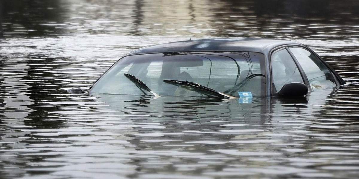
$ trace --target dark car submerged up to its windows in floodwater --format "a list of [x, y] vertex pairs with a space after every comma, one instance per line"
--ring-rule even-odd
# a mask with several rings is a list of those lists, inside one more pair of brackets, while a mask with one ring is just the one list
[[88, 92], [225, 99], [304, 96], [342, 84], [337, 72], [303, 44], [229, 38], [135, 50], [113, 64]]

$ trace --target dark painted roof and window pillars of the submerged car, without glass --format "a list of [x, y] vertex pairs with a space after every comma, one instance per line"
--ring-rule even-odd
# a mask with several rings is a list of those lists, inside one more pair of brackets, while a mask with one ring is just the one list
[[[310, 53], [311, 58], [315, 58], [316, 63], [321, 63], [321, 68], [326, 68], [327, 71], [330, 71], [333, 77], [332, 82], [335, 83], [335, 86], [340, 86], [345, 84], [344, 80], [339, 76], [339, 74], [332, 69], [323, 59], [320, 58], [318, 54], [313, 52], [310, 48], [306, 47], [298, 42], [293, 42], [290, 40], [277, 40], [277, 39], [260, 39], [260, 38], [228, 38], [228, 39], [199, 39], [199, 40], [187, 40], [181, 42], [171, 42], [164, 43], [159, 45], [153, 45], [150, 47], [144, 47], [125, 55], [125, 57], [130, 57], [134, 55], [145, 55], [145, 54], [173, 54], [173, 53], [190, 53], [190, 52], [255, 52], [261, 53], [264, 55], [264, 64], [265, 64], [265, 94], [262, 96], [276, 96], [278, 95], [279, 89], [274, 88], [274, 66], [272, 62], [273, 54], [282, 51], [290, 55], [286, 61], [295, 64], [296, 68], [299, 71], [300, 76], [303, 79], [303, 83], [307, 86], [308, 91], [313, 91], [313, 85], [308, 80], [307, 74], [302, 68], [301, 62], [298, 61], [296, 55], [293, 54], [293, 48], [304, 49], [304, 51]], [[249, 55], [248, 55], [249, 56]], [[120, 59], [120, 61], [121, 61]], [[291, 62], [292, 61], [292, 62]], [[304, 63], [304, 62], [303, 62]], [[295, 69], [296, 70], [296, 69]], [[294, 73], [294, 72], [293, 72]], [[106, 74], [106, 72], [105, 72]], [[327, 76], [327, 74], [326, 74]], [[101, 79], [101, 78], [99, 78]], [[335, 82], [334, 82], [335, 81]], [[97, 82], [96, 82], [97, 83]], [[96, 84], [94, 83], [94, 84]], [[93, 85], [94, 86], [94, 85]], [[93, 86], [89, 89], [88, 92], [92, 92]]]

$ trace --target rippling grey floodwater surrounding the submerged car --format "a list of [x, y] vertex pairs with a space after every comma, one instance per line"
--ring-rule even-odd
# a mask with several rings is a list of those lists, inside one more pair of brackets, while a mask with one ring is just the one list
[[[0, 178], [358, 178], [358, 4], [0, 1]], [[248, 104], [66, 92], [190, 37], [296, 40], [348, 84]]]

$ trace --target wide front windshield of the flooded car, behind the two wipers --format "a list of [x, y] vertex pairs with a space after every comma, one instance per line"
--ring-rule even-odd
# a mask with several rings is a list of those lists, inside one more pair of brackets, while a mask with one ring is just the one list
[[[132, 55], [116, 62], [89, 90], [90, 93], [152, 95], [125, 76], [130, 74], [160, 96], [210, 96], [185, 85], [188, 81], [231, 96], [251, 92], [265, 95], [265, 65], [261, 53], [196, 52]], [[260, 75], [258, 75], [260, 74]], [[127, 75], [128, 76], [128, 75]]]

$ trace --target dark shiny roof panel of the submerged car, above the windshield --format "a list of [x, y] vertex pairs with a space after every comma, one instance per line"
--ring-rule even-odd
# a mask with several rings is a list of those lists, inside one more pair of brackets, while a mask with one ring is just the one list
[[137, 49], [127, 55], [165, 52], [203, 52], [203, 51], [243, 51], [266, 52], [272, 48], [298, 44], [290, 40], [262, 39], [262, 38], [220, 38], [198, 39], [180, 42], [170, 42]]

